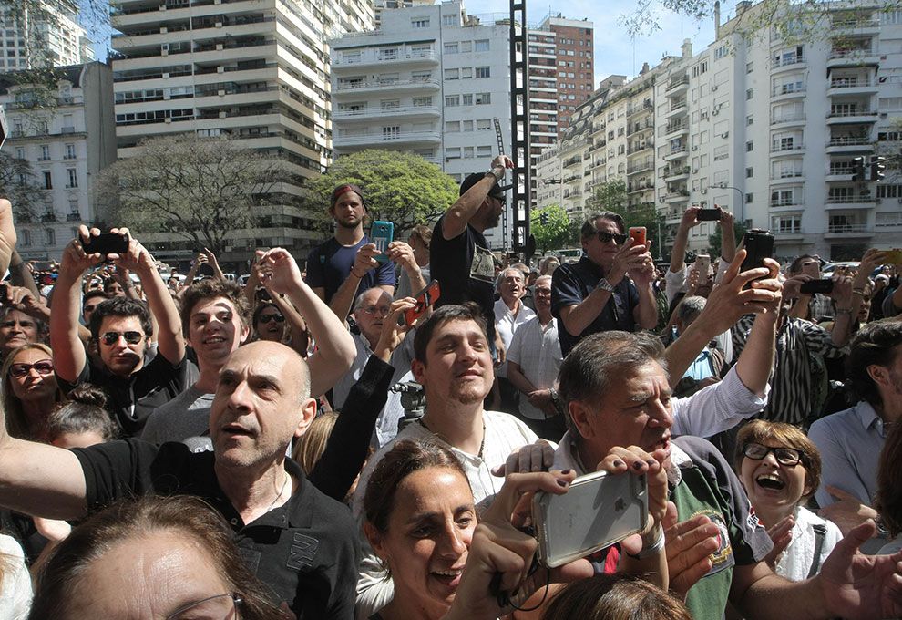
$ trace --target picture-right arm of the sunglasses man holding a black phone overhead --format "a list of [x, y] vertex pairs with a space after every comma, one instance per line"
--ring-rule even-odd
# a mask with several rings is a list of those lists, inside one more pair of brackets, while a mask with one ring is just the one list
[[[128, 229], [119, 229], [128, 233]], [[128, 242], [128, 252], [116, 260], [117, 267], [134, 271], [141, 279], [144, 294], [147, 295], [150, 312], [157, 319], [157, 346], [159, 355], [170, 364], [176, 365], [185, 357], [185, 336], [181, 330], [179, 309], [169, 294], [169, 289], [159, 276], [153, 256], [136, 239]]]

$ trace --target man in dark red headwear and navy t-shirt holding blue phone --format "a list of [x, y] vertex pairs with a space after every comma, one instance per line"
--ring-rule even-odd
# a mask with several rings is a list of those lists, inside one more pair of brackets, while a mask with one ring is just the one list
[[[335, 310], [333, 297], [345, 299], [348, 307], [356, 294], [374, 286], [395, 293], [395, 268], [388, 261], [371, 268], [378, 254], [375, 244], [364, 233], [366, 205], [363, 191], [356, 185], [343, 184], [332, 192], [329, 214], [335, 221], [335, 234], [307, 256], [307, 284]], [[360, 264], [355, 264], [360, 263]], [[373, 261], [374, 263], [374, 261]], [[344, 286], [343, 286], [344, 284]], [[338, 294], [342, 289], [343, 294]], [[350, 289], [350, 290], [349, 290]], [[340, 318], [344, 318], [340, 313]], [[347, 315], [345, 311], [344, 315]]]

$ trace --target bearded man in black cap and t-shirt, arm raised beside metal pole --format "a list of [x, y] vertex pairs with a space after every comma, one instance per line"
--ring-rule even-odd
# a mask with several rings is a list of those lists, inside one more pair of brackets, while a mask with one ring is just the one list
[[432, 277], [442, 294], [437, 306], [475, 302], [488, 328], [489, 345], [503, 361], [503, 345], [495, 330], [495, 261], [483, 235], [498, 224], [507, 188], [498, 185], [514, 162], [498, 155], [487, 172], [477, 172], [460, 184], [460, 198], [436, 223], [429, 246]]

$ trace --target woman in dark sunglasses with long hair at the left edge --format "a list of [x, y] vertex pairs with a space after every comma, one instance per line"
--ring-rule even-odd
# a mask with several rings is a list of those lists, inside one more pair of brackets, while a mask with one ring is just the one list
[[41, 343], [19, 346], [6, 356], [2, 370], [6, 429], [18, 439], [48, 441], [46, 424], [63, 398], [56, 386], [53, 354]]

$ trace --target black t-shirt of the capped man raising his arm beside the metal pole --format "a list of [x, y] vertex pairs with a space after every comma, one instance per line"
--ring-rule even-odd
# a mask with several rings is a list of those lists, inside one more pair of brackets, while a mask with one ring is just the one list
[[486, 237], [467, 224], [453, 239], [442, 234], [443, 215], [436, 223], [429, 246], [429, 269], [438, 280], [441, 294], [436, 307], [476, 302], [488, 327], [488, 340], [495, 337], [495, 260]]

